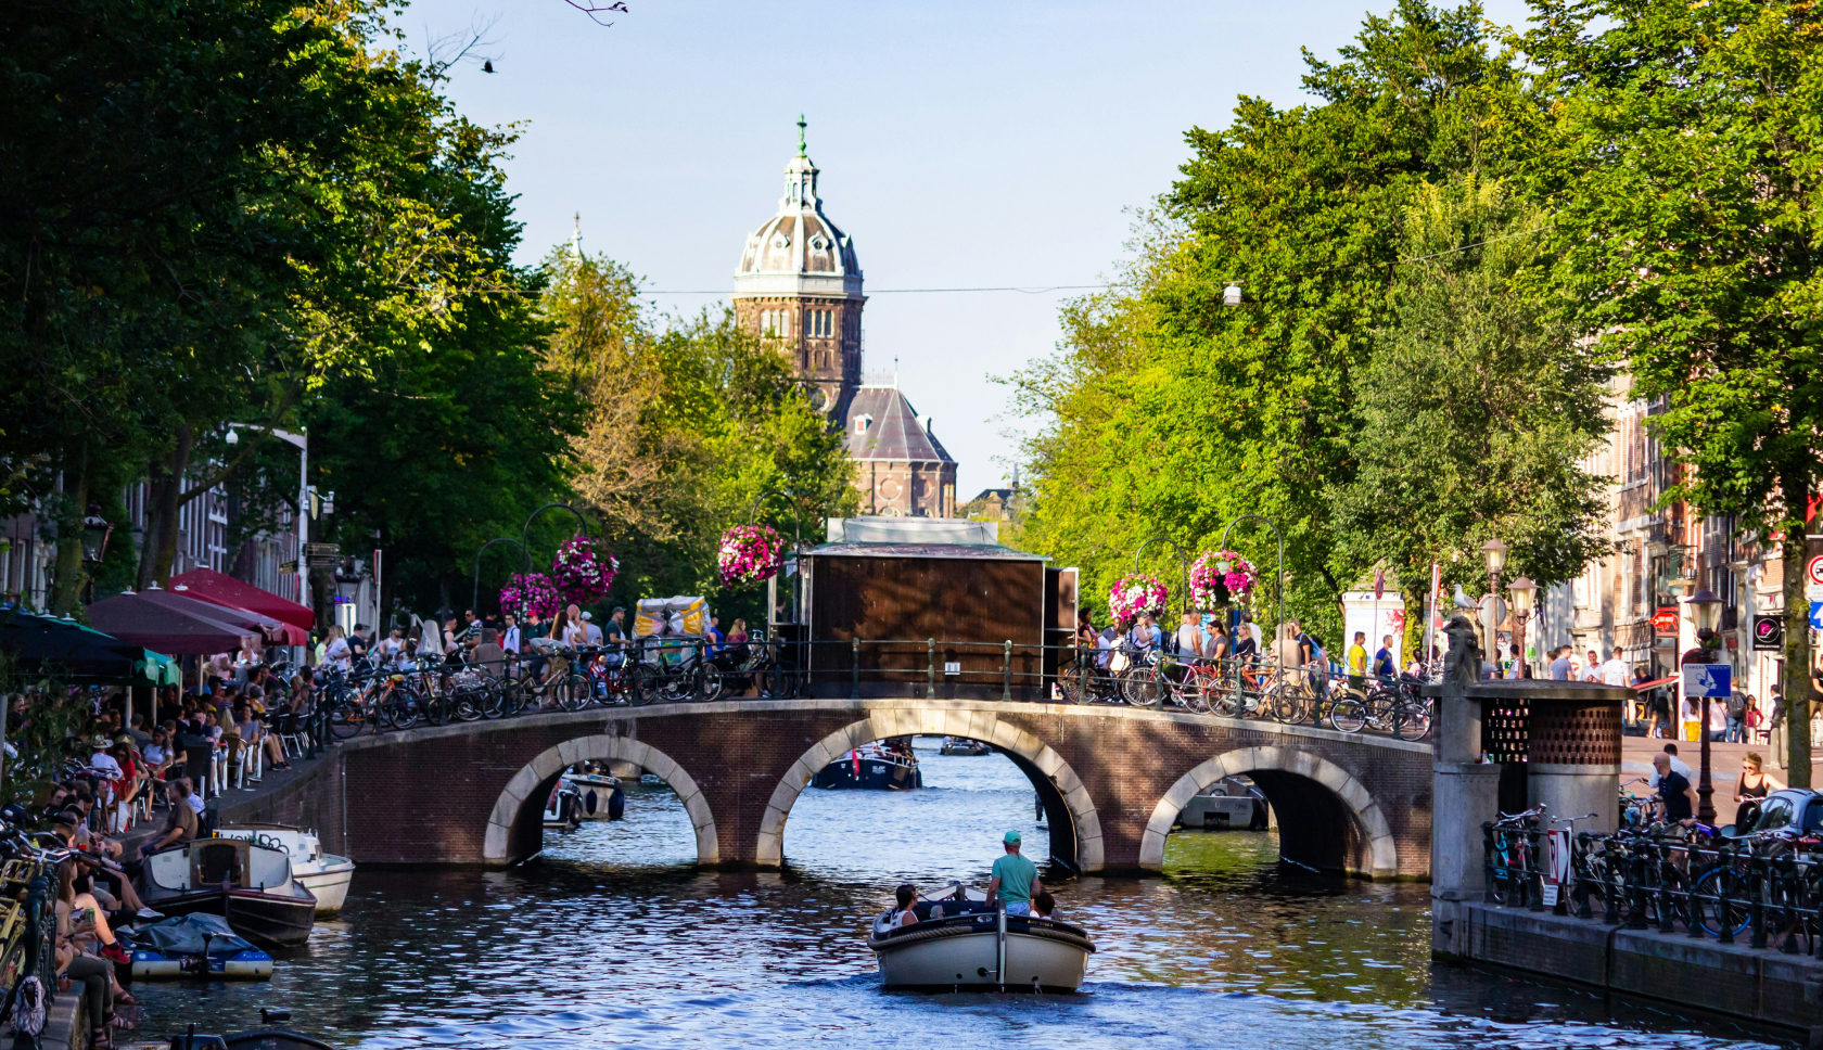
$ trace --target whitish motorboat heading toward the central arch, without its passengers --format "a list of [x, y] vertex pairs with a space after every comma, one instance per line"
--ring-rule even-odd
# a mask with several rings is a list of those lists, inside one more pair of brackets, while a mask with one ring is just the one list
[[1096, 950], [1077, 926], [1008, 915], [972, 897], [919, 901], [913, 911], [912, 926], [891, 926], [893, 910], [873, 919], [868, 946], [886, 988], [1076, 992]]

